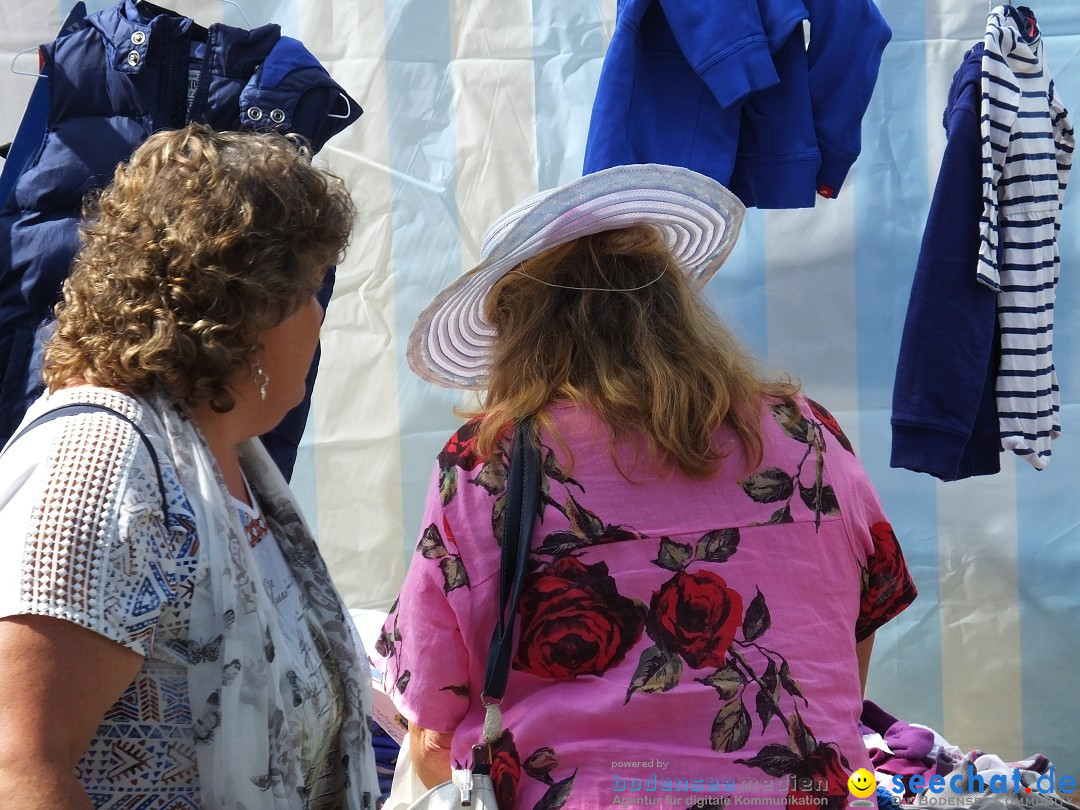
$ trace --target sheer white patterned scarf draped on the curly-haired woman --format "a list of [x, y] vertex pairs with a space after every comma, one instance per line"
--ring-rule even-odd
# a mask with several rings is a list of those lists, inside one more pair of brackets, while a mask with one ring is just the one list
[[[145, 399], [161, 431], [195, 517], [210, 586], [197, 589], [188, 690], [202, 805], [227, 810], [364, 810], [375, 807], [378, 781], [370, 744], [370, 684], [352, 620], [278, 468], [258, 440], [240, 447], [244, 474], [303, 594], [301, 647], [316, 651], [336, 699], [337, 724], [324, 745], [305, 739], [295, 707], [303, 651], [284, 644], [271, 596], [257, 570], [237, 510], [202, 434], [164, 395]], [[154, 419], [157, 417], [157, 419]], [[269, 539], [269, 538], [268, 538]], [[201, 659], [201, 660], [194, 660]]]

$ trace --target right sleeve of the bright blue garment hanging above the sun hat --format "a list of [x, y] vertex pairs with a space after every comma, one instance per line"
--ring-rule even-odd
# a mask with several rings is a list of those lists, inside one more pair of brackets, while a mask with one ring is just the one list
[[807, 0], [818, 190], [836, 197], [862, 148], [862, 120], [892, 30], [873, 0]]

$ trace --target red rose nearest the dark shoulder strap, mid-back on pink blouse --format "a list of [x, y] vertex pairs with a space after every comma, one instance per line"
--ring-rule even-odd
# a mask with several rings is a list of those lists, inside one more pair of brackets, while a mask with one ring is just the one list
[[603, 675], [642, 638], [644, 613], [616, 590], [606, 563], [561, 557], [525, 580], [514, 669], [542, 678]]

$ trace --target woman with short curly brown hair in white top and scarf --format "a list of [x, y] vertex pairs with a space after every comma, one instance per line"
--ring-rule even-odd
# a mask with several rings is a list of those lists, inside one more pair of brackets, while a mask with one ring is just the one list
[[87, 203], [0, 457], [0, 806], [374, 807], [363, 652], [254, 438], [353, 216], [302, 144], [199, 125]]

